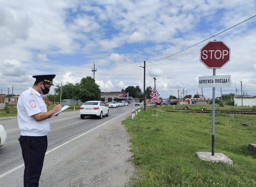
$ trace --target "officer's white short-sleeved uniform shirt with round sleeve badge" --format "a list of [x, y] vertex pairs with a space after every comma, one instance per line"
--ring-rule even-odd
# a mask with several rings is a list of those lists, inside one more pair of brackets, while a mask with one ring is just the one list
[[41, 112], [47, 112], [43, 95], [29, 87], [19, 96], [18, 103], [18, 124], [22, 136], [45, 136], [50, 131], [50, 120], [35, 121], [32, 117]]

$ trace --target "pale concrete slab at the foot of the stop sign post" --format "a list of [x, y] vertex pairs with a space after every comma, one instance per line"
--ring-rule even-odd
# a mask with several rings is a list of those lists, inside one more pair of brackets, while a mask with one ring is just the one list
[[233, 161], [223, 153], [214, 153], [214, 156], [212, 156], [212, 152], [196, 152], [196, 156], [204, 161], [223, 162], [233, 165]]

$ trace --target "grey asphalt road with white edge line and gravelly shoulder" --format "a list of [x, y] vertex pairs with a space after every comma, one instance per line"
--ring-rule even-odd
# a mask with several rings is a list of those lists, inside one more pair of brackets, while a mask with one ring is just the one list
[[[109, 108], [102, 119], [79, 111], [62, 112], [50, 119], [48, 148], [39, 186], [125, 186], [134, 173], [129, 134], [121, 121], [134, 105]], [[0, 187], [23, 185], [23, 159], [17, 117], [0, 118], [7, 140], [0, 148]]]

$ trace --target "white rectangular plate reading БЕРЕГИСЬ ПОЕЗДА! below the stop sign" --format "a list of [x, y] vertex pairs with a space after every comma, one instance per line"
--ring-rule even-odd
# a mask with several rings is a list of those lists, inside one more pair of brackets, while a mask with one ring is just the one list
[[209, 87], [222, 87], [229, 88], [231, 82], [230, 75], [216, 75], [216, 76], [204, 76], [199, 77], [198, 87], [209, 88]]

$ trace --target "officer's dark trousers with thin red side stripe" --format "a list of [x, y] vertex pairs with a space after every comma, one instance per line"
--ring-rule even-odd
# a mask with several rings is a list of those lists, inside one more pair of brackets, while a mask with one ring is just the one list
[[47, 136], [20, 136], [19, 141], [25, 164], [24, 187], [38, 187], [47, 149]]

